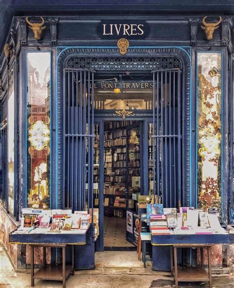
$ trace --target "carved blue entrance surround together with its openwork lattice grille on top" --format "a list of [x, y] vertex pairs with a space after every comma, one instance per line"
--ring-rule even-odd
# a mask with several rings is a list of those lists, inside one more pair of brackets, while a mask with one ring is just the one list
[[[183, 70], [182, 89], [182, 197], [183, 206], [190, 206], [190, 57], [180, 48], [129, 48], [119, 57], [117, 48], [67, 48], [57, 58], [57, 203], [63, 208], [63, 69], [95, 70], [158, 70], [179, 68]], [[120, 69], [120, 70], [122, 70]]]

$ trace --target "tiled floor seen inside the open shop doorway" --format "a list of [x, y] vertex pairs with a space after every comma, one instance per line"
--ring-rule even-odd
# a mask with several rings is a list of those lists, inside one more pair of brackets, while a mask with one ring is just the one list
[[134, 247], [126, 240], [126, 218], [104, 216], [104, 247]]

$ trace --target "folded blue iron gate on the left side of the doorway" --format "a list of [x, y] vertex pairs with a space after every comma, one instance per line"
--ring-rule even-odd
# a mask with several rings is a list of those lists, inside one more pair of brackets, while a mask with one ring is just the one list
[[93, 208], [94, 71], [64, 70], [65, 207]]

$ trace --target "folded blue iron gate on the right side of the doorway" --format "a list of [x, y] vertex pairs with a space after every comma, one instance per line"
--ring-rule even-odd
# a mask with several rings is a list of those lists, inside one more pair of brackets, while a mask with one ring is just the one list
[[181, 206], [181, 70], [153, 71], [153, 192]]

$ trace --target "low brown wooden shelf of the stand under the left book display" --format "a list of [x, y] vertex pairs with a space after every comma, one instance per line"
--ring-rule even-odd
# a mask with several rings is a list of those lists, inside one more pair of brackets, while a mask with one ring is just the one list
[[[73, 272], [73, 266], [65, 267], [65, 279]], [[63, 281], [62, 265], [46, 265], [34, 274], [34, 279]]]

